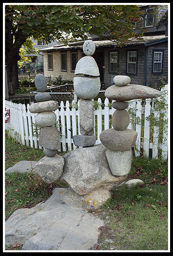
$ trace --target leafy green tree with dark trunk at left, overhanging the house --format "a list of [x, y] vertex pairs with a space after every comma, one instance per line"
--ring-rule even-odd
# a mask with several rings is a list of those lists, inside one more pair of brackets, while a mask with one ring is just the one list
[[135, 22], [140, 22], [138, 5], [5, 5], [5, 65], [8, 87], [19, 87], [19, 50], [30, 37], [44, 40], [87, 39], [86, 33], [108, 37], [123, 46], [129, 38], [139, 38]]

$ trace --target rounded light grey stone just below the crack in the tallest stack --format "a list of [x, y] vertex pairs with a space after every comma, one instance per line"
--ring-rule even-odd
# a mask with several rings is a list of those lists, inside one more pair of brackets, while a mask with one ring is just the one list
[[99, 77], [74, 77], [73, 83], [75, 94], [84, 100], [94, 99], [101, 89]]

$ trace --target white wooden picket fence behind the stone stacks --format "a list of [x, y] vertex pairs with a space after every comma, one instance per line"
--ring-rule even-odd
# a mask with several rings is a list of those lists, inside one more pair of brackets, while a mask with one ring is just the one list
[[[165, 90], [168, 90], [168, 85], [166, 85]], [[168, 101], [168, 95], [166, 94], [166, 102]], [[74, 102], [75, 103], [75, 102]], [[97, 135], [96, 144], [101, 143], [99, 135], [103, 130], [109, 129], [111, 125], [111, 117], [115, 109], [108, 107], [109, 101], [106, 98], [104, 105], [101, 107], [101, 99], [98, 99], [98, 109], [94, 110], [94, 134]], [[69, 102], [67, 101], [64, 105], [61, 102], [59, 108], [54, 111], [57, 116], [58, 131], [61, 133], [60, 141], [62, 143], [62, 150], [65, 152], [67, 150], [76, 149], [77, 147], [73, 144], [72, 136], [80, 134], [79, 127], [79, 101], [77, 102], [78, 108], [71, 108]], [[38, 138], [34, 137], [34, 131], [32, 123], [35, 124], [35, 115], [27, 111], [25, 104], [16, 104], [5, 100], [5, 107], [10, 109], [10, 118], [7, 123], [5, 123], [5, 129], [10, 132], [12, 137], [15, 137], [22, 145], [27, 145], [32, 148], [40, 148], [38, 143]], [[135, 119], [138, 120], [137, 123], [129, 124], [129, 129], [136, 130], [138, 132], [138, 137], [135, 145], [135, 155], [139, 156], [142, 151], [145, 156], [149, 156], [150, 149], [152, 150], [152, 157], [155, 158], [161, 150], [161, 156], [164, 159], [168, 157], [168, 133], [163, 135], [163, 143], [158, 145], [158, 126], [154, 126], [153, 134], [151, 138], [150, 134], [150, 121], [147, 120], [147, 116], [150, 116], [153, 105], [150, 104], [150, 99], [146, 100], [145, 107], [138, 100], [133, 100], [129, 102], [128, 109], [133, 109], [135, 113]], [[128, 110], [127, 109], [127, 110]], [[161, 115], [166, 120], [168, 119], [168, 109], [162, 109], [161, 111], [154, 111], [154, 116], [159, 117]], [[164, 115], [163, 115], [164, 113]], [[144, 116], [145, 121], [139, 122]], [[168, 130], [168, 124], [164, 125], [164, 130]], [[141, 135], [143, 131], [143, 136]]]

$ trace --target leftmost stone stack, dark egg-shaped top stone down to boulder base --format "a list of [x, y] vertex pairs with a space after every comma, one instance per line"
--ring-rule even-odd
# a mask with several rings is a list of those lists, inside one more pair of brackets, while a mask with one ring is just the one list
[[51, 100], [51, 95], [46, 91], [47, 80], [43, 74], [35, 76], [35, 86], [39, 93], [35, 95], [37, 103], [31, 104], [29, 111], [38, 113], [35, 116], [35, 123], [40, 128], [39, 145], [43, 147], [44, 158], [38, 161], [34, 170], [47, 183], [58, 179], [63, 172], [64, 159], [57, 153], [61, 151], [61, 142], [58, 136], [58, 130], [54, 126], [56, 123], [56, 114], [53, 112], [58, 109], [58, 102]]

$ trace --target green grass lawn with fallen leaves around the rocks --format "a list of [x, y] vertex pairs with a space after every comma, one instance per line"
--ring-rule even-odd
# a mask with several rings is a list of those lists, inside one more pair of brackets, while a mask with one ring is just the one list
[[[19, 161], [39, 161], [40, 149], [27, 148], [5, 137], [5, 169]], [[112, 190], [112, 197], [92, 213], [102, 218], [98, 244], [91, 250], [168, 250], [168, 161], [133, 158], [128, 179], [138, 178], [145, 185]], [[33, 207], [46, 200], [54, 187], [66, 185], [57, 180], [47, 185], [37, 173], [5, 174], [5, 220], [19, 208]], [[13, 246], [13, 247], [12, 247]], [[20, 250], [12, 245], [6, 250]]]

